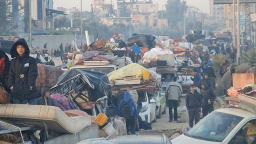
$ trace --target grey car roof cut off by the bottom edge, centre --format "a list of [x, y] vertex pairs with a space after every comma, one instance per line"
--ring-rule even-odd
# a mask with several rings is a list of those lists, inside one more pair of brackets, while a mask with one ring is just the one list
[[161, 135], [124, 135], [107, 138], [94, 138], [80, 141], [76, 144], [171, 144], [168, 137]]

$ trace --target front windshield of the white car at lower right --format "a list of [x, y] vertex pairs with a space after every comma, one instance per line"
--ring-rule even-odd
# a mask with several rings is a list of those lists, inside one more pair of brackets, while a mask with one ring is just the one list
[[221, 142], [242, 120], [242, 117], [213, 111], [192, 127], [185, 135], [207, 141]]

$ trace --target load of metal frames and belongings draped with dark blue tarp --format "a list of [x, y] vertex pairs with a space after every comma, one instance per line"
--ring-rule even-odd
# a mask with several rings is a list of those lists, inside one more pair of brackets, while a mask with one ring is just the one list
[[69, 97], [80, 109], [86, 109], [88, 103], [95, 103], [111, 96], [112, 90], [108, 77], [99, 72], [82, 69], [65, 71], [50, 93], [59, 93]]

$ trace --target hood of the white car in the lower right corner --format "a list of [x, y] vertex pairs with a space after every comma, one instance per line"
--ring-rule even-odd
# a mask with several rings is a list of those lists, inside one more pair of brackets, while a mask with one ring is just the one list
[[198, 143], [207, 143], [207, 144], [220, 144], [221, 142], [206, 141], [201, 139], [196, 139], [192, 137], [185, 136], [184, 134], [171, 140], [172, 144], [198, 144]]

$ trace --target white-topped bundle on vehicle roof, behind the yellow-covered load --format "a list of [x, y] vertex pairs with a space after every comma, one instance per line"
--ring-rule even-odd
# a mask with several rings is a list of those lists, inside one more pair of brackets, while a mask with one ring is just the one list
[[155, 47], [144, 53], [142, 62], [152, 67], [174, 66], [176, 60], [171, 50]]

